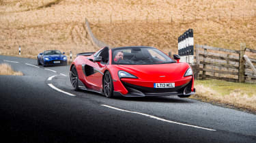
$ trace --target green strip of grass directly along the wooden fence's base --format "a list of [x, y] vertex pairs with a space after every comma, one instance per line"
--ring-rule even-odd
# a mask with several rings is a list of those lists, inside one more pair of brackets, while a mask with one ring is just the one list
[[256, 84], [250, 83], [227, 82], [223, 80], [195, 80], [195, 85], [197, 84], [203, 84], [203, 86], [209, 87], [223, 96], [229, 95], [234, 91], [239, 91], [242, 95], [247, 94], [249, 97], [256, 93]]

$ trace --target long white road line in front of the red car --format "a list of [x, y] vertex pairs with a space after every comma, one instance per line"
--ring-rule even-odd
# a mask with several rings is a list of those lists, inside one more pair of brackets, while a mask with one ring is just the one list
[[140, 112], [132, 112], [132, 111], [129, 111], [129, 110], [122, 110], [122, 109], [115, 108], [115, 107], [112, 107], [112, 106], [107, 106], [107, 105], [101, 105], [101, 106], [105, 106], [107, 108], [112, 108], [112, 109], [123, 111], [123, 112], [130, 112], [130, 113], [134, 113], [134, 114], [141, 114], [143, 116], [148, 116], [150, 118], [154, 118], [156, 120], [164, 121], [164, 122], [167, 122], [167, 123], [174, 123], [174, 124], [177, 124], [177, 125], [184, 125], [184, 126], [188, 126], [188, 127], [195, 127], [195, 128], [198, 128], [198, 129], [205, 129], [205, 130], [208, 130], [208, 131], [216, 131], [216, 129], [208, 129], [208, 128], [199, 127], [199, 126], [196, 126], [196, 125], [188, 125], [188, 124], [184, 124], [184, 123], [178, 123], [178, 122], [174, 122], [174, 121], [169, 121], [169, 120], [166, 120], [165, 118], [159, 118], [157, 116], [152, 116], [150, 114], [144, 114], [144, 113], [140, 113]]

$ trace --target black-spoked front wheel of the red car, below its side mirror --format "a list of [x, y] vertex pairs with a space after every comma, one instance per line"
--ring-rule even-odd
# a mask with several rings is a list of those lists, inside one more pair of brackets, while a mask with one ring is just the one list
[[108, 98], [113, 97], [113, 81], [111, 74], [107, 71], [106, 74], [104, 74], [104, 80], [103, 80], [103, 91], [104, 95]]

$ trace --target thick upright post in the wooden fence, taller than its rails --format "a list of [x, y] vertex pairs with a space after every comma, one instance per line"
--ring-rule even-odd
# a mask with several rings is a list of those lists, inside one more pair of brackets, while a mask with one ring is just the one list
[[240, 45], [240, 54], [239, 54], [239, 75], [238, 75], [238, 82], [245, 82], [245, 60], [244, 60], [244, 54], [245, 54], [245, 44]]

